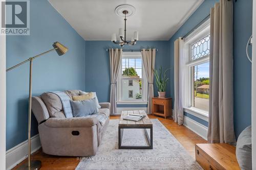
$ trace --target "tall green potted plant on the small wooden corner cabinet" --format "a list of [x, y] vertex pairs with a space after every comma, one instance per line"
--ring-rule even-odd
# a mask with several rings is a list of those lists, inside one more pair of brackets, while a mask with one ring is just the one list
[[159, 72], [157, 70], [153, 69], [154, 75], [156, 77], [156, 84], [157, 84], [157, 89], [158, 89], [158, 98], [165, 98], [166, 84], [169, 80], [169, 78], [166, 77], [166, 72], [168, 71], [168, 69], [166, 69], [164, 72], [162, 71], [162, 66], [159, 68]]

